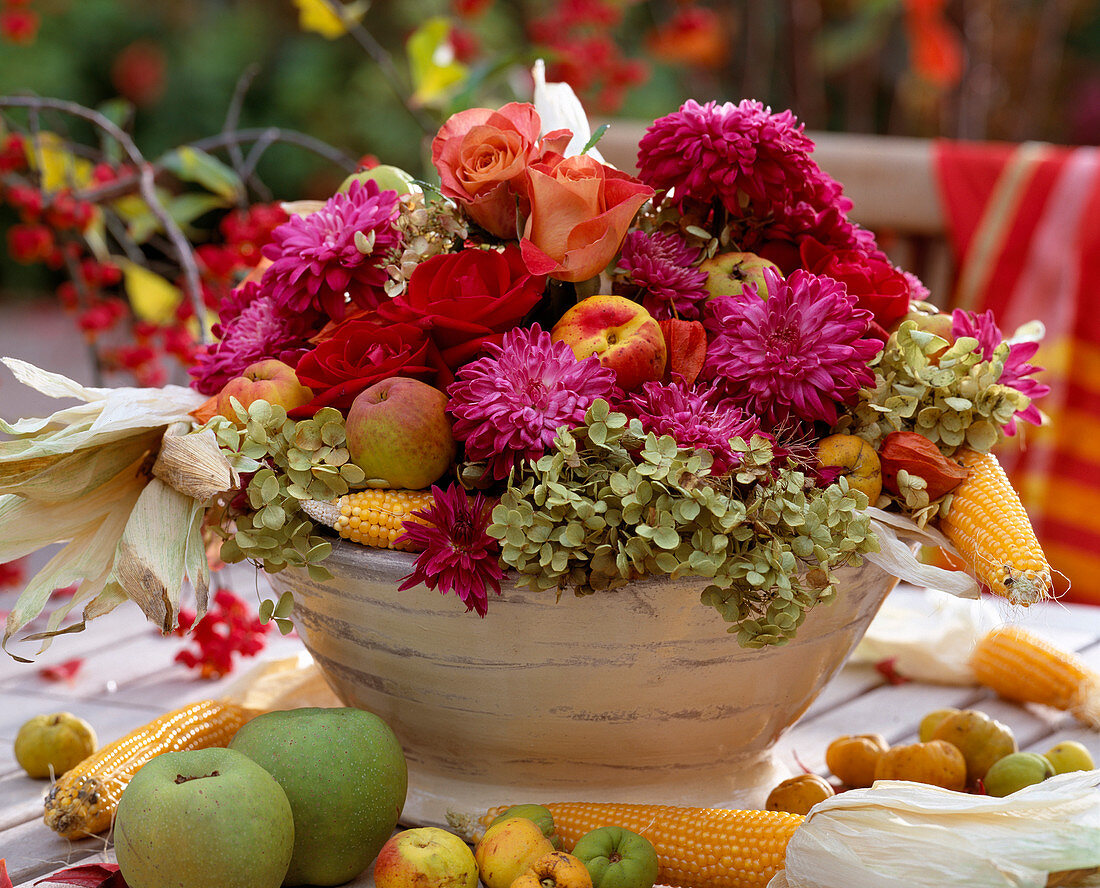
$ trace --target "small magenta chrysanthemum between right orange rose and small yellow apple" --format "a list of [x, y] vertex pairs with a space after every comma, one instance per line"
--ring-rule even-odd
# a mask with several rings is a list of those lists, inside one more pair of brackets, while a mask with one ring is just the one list
[[693, 267], [698, 250], [674, 232], [631, 231], [619, 266], [641, 287], [641, 304], [658, 320], [698, 320], [706, 302], [706, 272]]

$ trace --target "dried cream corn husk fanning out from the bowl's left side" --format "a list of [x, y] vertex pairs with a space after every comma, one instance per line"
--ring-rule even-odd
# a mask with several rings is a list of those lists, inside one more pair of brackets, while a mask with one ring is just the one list
[[[179, 386], [91, 388], [23, 361], [3, 362], [43, 394], [84, 402], [45, 418], [0, 420], [0, 430], [15, 436], [0, 441], [0, 561], [65, 544], [8, 614], [3, 648], [46, 609], [54, 589], [74, 583], [76, 594], [51, 613], [45, 631], [26, 640], [48, 644], [56, 635], [79, 632], [88, 620], [131, 599], [162, 629], [173, 628], [185, 575], [198, 610], [205, 610], [209, 569], [201, 524], [208, 497], [196, 498], [150, 474], [166, 428], [189, 428], [188, 412], [201, 395]], [[209, 454], [209, 442], [184, 447]], [[228, 464], [219, 470], [234, 478]], [[63, 628], [78, 606], [84, 618]]]

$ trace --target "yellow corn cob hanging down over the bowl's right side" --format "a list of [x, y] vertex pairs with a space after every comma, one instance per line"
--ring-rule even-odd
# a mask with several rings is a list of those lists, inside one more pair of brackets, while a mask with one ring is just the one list
[[944, 535], [996, 594], [1024, 606], [1050, 598], [1050, 566], [1001, 463], [974, 450], [958, 457], [970, 474], [941, 519]]

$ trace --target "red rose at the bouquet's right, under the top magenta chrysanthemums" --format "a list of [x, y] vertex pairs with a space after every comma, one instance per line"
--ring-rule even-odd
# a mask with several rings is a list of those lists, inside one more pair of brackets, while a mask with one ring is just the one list
[[800, 245], [802, 264], [807, 272], [832, 277], [844, 284], [859, 299], [859, 307], [875, 316], [882, 328], [909, 313], [910, 282], [881, 253], [836, 250], [812, 238]]

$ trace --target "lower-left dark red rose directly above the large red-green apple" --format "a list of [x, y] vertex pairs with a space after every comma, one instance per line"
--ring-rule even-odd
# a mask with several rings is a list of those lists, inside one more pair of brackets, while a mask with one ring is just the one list
[[439, 388], [452, 379], [420, 327], [391, 324], [375, 315], [344, 320], [301, 357], [296, 372], [298, 381], [314, 390], [314, 399], [292, 413], [296, 419], [321, 407], [346, 410], [355, 395], [391, 376], [411, 376]]

